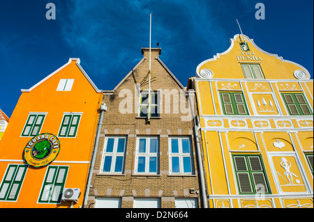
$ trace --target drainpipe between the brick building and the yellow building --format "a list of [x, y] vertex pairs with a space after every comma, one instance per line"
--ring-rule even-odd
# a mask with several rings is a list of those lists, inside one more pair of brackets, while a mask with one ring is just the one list
[[[204, 171], [202, 165], [202, 156], [200, 152], [200, 139], [198, 138], [198, 129], [200, 129], [200, 122], [196, 122], [196, 117], [194, 116], [194, 106], [192, 104], [192, 100], [190, 97], [190, 91], [188, 91], [188, 100], [190, 101], [190, 109], [192, 111], [193, 122], [194, 122], [194, 135], [195, 135], [195, 143], [196, 143], [196, 151], [197, 151], [197, 164], [198, 168], [200, 168], [200, 182], [201, 182], [201, 190], [202, 190], [202, 203], [203, 207], [207, 208], [207, 195], [205, 189], [205, 180], [204, 180]], [[197, 116], [198, 117], [198, 116]]]

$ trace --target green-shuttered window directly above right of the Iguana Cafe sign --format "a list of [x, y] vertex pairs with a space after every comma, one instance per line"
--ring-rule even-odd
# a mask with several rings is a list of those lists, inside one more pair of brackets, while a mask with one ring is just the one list
[[65, 114], [62, 119], [58, 136], [75, 137], [80, 123], [81, 114]]

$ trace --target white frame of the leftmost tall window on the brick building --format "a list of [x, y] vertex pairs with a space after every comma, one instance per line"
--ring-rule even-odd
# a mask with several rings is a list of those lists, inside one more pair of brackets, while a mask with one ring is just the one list
[[[107, 152], [107, 143], [109, 138], [114, 138], [114, 146], [112, 152]], [[118, 142], [119, 138], [124, 138], [124, 152], [117, 152], [118, 151]], [[101, 165], [100, 165], [100, 173], [101, 174], [124, 174], [124, 166], [126, 162], [126, 143], [127, 143], [127, 137], [126, 136], [106, 136], [105, 138], [105, 144], [103, 146], [103, 157], [101, 159]], [[103, 171], [104, 164], [105, 164], [105, 157], [112, 157], [111, 166], [110, 166], [110, 172]], [[122, 161], [122, 171], [121, 172], [115, 172], [115, 166], [117, 157], [123, 157]]]

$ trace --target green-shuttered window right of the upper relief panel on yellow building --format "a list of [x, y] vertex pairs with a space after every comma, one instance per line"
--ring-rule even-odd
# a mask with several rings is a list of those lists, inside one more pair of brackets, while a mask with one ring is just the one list
[[303, 93], [283, 93], [282, 95], [290, 115], [307, 116], [313, 114]]

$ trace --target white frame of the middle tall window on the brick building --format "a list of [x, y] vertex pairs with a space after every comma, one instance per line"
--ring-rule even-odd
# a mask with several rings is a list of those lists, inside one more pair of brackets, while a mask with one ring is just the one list
[[[146, 152], [140, 152], [140, 139], [146, 139]], [[150, 142], [151, 138], [156, 138], [157, 140], [157, 150], [156, 153], [150, 153]], [[160, 173], [160, 164], [159, 164], [159, 152], [160, 152], [160, 145], [159, 145], [159, 138], [158, 136], [139, 136], [136, 139], [136, 155], [135, 155], [135, 174], [138, 175], [159, 175]], [[138, 159], [139, 157], [145, 157], [145, 171], [138, 172]], [[149, 172], [149, 158], [156, 157], [156, 173]]]

